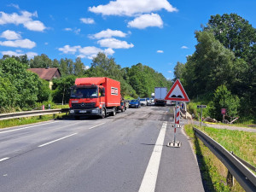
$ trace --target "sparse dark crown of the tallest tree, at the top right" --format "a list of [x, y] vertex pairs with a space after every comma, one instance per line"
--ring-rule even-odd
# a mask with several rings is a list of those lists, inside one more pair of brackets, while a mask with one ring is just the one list
[[[236, 14], [212, 15], [204, 30], [211, 29], [215, 38], [236, 57], [245, 61], [255, 58], [256, 30]], [[252, 58], [253, 56], [253, 58]]]

